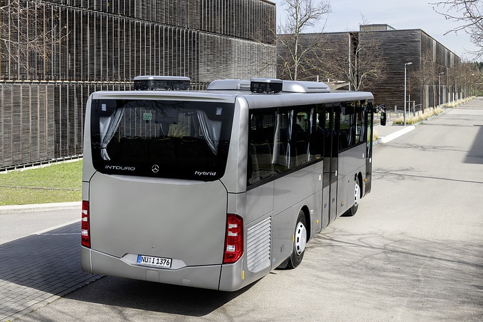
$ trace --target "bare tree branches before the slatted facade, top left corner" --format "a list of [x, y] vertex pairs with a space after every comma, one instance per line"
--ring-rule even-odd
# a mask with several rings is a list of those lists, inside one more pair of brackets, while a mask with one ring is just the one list
[[66, 37], [57, 10], [46, 1], [0, 0], [0, 77], [43, 72], [53, 46]]

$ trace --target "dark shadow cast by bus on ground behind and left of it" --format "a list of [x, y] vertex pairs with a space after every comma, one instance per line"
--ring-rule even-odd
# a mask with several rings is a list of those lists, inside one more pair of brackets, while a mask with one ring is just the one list
[[[250, 288], [220, 292], [112, 276], [101, 278], [81, 270], [80, 252], [80, 223], [1, 244], [0, 298], [23, 290], [37, 294], [37, 303], [57, 295], [90, 303], [204, 316]], [[32, 299], [25, 301], [25, 308], [19, 311], [32, 305]], [[8, 304], [0, 308], [0, 313], [11, 309]]]

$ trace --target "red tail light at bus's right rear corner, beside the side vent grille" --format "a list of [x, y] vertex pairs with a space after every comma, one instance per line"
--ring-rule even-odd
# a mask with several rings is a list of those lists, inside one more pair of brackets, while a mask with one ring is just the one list
[[243, 254], [243, 219], [237, 214], [226, 216], [225, 252], [223, 263], [238, 261]]

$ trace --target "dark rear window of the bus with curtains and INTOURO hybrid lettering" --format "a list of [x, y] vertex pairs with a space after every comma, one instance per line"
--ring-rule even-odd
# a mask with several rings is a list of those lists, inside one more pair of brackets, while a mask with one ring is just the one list
[[91, 148], [106, 174], [213, 181], [223, 176], [233, 103], [92, 101]]

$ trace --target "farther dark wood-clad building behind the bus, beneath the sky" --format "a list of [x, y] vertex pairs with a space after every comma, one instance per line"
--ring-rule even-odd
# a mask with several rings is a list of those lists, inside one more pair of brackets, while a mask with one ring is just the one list
[[[405, 69], [411, 110], [453, 101], [465, 92], [460, 57], [421, 29], [368, 25], [356, 32], [303, 34], [302, 42], [315, 47], [300, 68], [304, 73], [299, 79], [318, 78], [333, 88], [349, 89], [351, 84], [351, 90], [369, 90], [377, 104], [391, 110], [404, 110]], [[280, 69], [277, 75], [285, 77]]]

